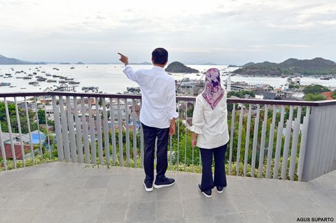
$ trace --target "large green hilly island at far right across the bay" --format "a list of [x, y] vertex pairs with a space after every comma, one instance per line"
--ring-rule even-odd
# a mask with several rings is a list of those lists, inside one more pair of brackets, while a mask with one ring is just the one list
[[248, 63], [233, 73], [244, 75], [331, 75], [336, 73], [336, 63], [316, 57], [313, 60], [298, 60], [290, 58], [279, 64], [272, 62]]

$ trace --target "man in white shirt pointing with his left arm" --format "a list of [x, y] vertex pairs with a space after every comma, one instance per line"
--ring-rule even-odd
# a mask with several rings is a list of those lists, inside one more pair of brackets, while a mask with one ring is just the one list
[[156, 137], [156, 179], [155, 188], [171, 186], [174, 179], [165, 176], [167, 170], [167, 146], [168, 137], [175, 133], [175, 120], [178, 118], [176, 112], [175, 81], [165, 73], [165, 66], [168, 62], [168, 52], [163, 48], [154, 49], [152, 52], [152, 69], [134, 71], [128, 65], [128, 57], [118, 53], [119, 59], [125, 64], [123, 73], [139, 84], [142, 95], [142, 107], [140, 121], [145, 139], [145, 156], [143, 159], [145, 167], [146, 192], [152, 192], [154, 181], [154, 148]]

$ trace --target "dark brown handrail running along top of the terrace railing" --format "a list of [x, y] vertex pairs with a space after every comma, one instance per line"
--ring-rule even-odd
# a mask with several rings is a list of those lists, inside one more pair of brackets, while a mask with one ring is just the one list
[[[86, 92], [10, 92], [0, 93], [0, 98], [18, 96], [77, 96], [77, 97], [101, 97], [107, 99], [141, 99], [140, 94], [103, 94]], [[195, 101], [195, 96], [176, 96], [177, 101]], [[336, 105], [336, 100], [328, 101], [283, 101], [283, 100], [261, 100], [261, 99], [228, 99], [228, 103], [259, 104], [259, 105], [296, 105], [321, 107]]]

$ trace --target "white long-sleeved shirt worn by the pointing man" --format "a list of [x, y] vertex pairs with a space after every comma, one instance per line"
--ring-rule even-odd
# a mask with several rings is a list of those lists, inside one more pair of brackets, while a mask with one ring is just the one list
[[170, 120], [178, 118], [174, 79], [160, 66], [134, 71], [127, 65], [123, 73], [140, 86], [142, 100], [140, 121], [149, 127], [168, 128]]

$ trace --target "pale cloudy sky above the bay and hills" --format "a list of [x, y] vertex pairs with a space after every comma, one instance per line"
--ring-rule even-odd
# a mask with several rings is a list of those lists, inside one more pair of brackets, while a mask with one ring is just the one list
[[0, 0], [0, 54], [45, 62], [336, 61], [335, 0]]

